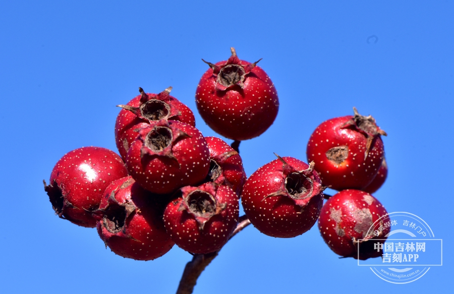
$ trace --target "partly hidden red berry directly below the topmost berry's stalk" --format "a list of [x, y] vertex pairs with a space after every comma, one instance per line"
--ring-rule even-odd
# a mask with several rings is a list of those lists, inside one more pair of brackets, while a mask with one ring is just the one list
[[229, 144], [216, 137], [205, 137], [210, 150], [210, 170], [207, 180], [229, 186], [240, 196], [246, 182], [243, 160]]

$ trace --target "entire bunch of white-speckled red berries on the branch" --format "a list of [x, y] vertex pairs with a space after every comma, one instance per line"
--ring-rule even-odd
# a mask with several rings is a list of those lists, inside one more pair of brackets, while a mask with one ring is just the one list
[[[309, 164], [276, 155], [246, 180], [238, 144], [272, 125], [279, 107], [276, 89], [257, 62], [240, 60], [233, 48], [228, 61], [205, 63], [210, 68], [196, 90], [197, 109], [209, 127], [234, 140], [232, 146], [203, 137], [191, 109], [169, 95], [172, 87], [159, 94], [139, 88], [140, 95], [118, 105], [120, 156], [84, 147], [54, 166], [44, 187], [55, 213], [96, 227], [120, 256], [153, 260], [175, 244], [193, 254], [220, 250], [237, 227], [241, 199], [262, 233], [292, 238], [319, 219], [330, 248], [356, 257], [358, 240], [373, 239], [367, 229], [386, 214], [366, 193], [386, 178], [380, 138], [385, 133], [355, 109], [354, 116], [315, 130], [307, 147]], [[327, 186], [343, 191], [323, 205]], [[360, 258], [374, 256], [371, 250]]]

